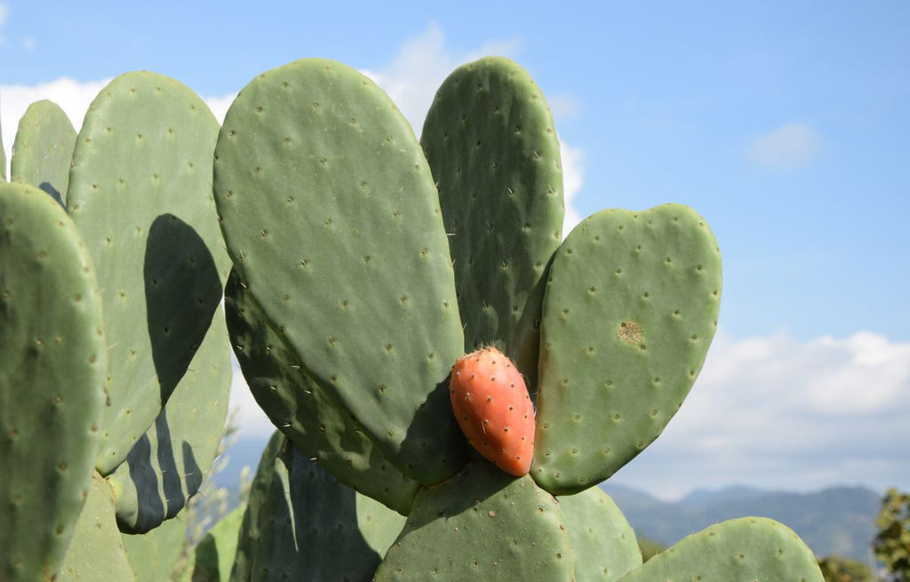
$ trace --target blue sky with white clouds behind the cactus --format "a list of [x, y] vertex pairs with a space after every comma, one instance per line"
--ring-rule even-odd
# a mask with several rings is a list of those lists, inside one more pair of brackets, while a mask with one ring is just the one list
[[0, 115], [7, 148], [38, 98], [78, 126], [106, 80], [140, 68], [223, 115], [258, 73], [323, 56], [377, 79], [420, 133], [452, 68], [508, 55], [550, 100], [574, 216], [680, 202], [723, 252], [702, 377], [615, 479], [664, 497], [910, 488], [907, 30], [901, 1], [0, 2]]

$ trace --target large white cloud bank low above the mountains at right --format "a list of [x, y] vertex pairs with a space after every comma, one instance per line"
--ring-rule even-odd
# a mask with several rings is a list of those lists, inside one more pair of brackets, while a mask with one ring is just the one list
[[615, 477], [662, 497], [748, 484], [910, 485], [910, 343], [719, 333], [663, 435]]

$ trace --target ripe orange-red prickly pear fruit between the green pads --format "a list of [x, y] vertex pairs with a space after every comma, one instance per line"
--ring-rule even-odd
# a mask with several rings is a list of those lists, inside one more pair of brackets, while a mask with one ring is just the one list
[[493, 346], [461, 356], [452, 366], [450, 396], [470, 445], [509, 475], [526, 475], [534, 452], [534, 405], [511, 360]]

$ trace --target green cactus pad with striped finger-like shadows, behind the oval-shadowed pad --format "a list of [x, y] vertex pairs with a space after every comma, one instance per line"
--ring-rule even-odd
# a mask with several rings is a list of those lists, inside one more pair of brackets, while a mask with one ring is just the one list
[[145, 533], [158, 527], [196, 495], [224, 436], [232, 374], [224, 315], [218, 309], [155, 424], [108, 477], [117, 492], [122, 531]]

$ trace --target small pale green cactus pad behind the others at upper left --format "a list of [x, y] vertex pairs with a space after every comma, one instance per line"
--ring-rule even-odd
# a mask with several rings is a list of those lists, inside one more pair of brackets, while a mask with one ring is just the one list
[[10, 180], [38, 186], [66, 206], [75, 146], [76, 130], [59, 105], [46, 99], [29, 105], [15, 134]]

